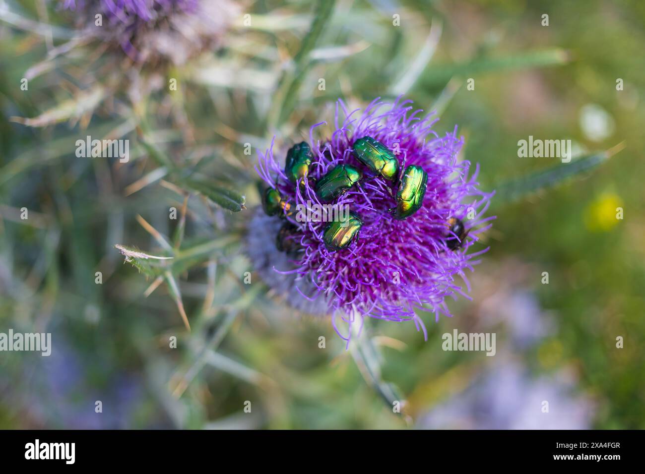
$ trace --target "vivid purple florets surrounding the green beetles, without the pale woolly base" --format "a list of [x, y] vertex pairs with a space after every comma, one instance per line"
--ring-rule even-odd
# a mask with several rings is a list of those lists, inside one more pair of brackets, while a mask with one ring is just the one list
[[[313, 186], [335, 165], [351, 164], [363, 172], [364, 179], [358, 186], [332, 201], [338, 206], [348, 204], [363, 222], [358, 238], [348, 248], [337, 252], [326, 248], [323, 241], [326, 222], [298, 222], [293, 215], [284, 216], [298, 227], [296, 240], [303, 250], [288, 259], [264, 258], [263, 262], [264, 265], [273, 264], [274, 276], [264, 273], [263, 277], [270, 279], [269, 284], [274, 288], [280, 275], [289, 275], [301, 298], [307, 301], [322, 298], [335, 329], [347, 340], [349, 336], [343, 336], [337, 327], [337, 316], [348, 324], [357, 317], [362, 322], [364, 316], [390, 321], [412, 320], [417, 330], [422, 329], [427, 337], [424, 324], [415, 311], [432, 311], [436, 321], [441, 314], [451, 316], [446, 297], [462, 295], [470, 299], [466, 294], [470, 284], [464, 270], [473, 270], [473, 265], [479, 262], [473, 259], [488, 250], [468, 253], [479, 234], [490, 228], [487, 222], [494, 219], [483, 217], [493, 193], [478, 189], [479, 166], [469, 176], [470, 163], [457, 161], [463, 144], [463, 139], [457, 137], [457, 128], [439, 137], [432, 130], [437, 119], [432, 114], [422, 117], [422, 111], [414, 110], [410, 104], [411, 101], [400, 100], [387, 104], [377, 99], [362, 114], [357, 114], [358, 110], [348, 112], [339, 100], [332, 137], [328, 141], [313, 139], [313, 130], [324, 123], [315, 124], [310, 130], [313, 161], [309, 167], [310, 180], [304, 183], [302, 192], [288, 181], [284, 166], [274, 157], [273, 143], [266, 153], [260, 153], [256, 167], [268, 186], [277, 189], [293, 204], [303, 205], [307, 201], [324, 204], [319, 201]], [[341, 112], [344, 115], [342, 123], [339, 121]], [[396, 184], [375, 177], [353, 155], [353, 143], [364, 136], [398, 151], [401, 172], [406, 166], [415, 164], [428, 174], [422, 206], [407, 219], [397, 220], [390, 212], [396, 207]], [[446, 239], [454, 237], [449, 235], [447, 224], [453, 217], [461, 219], [470, 231], [461, 248], [454, 251], [446, 246]], [[266, 219], [269, 218], [263, 216], [256, 222], [266, 222]], [[282, 220], [277, 216], [271, 219]], [[279, 224], [272, 221], [271, 226], [273, 230]], [[260, 257], [258, 250], [253, 252], [252, 258]], [[293, 295], [290, 291], [292, 300]]]

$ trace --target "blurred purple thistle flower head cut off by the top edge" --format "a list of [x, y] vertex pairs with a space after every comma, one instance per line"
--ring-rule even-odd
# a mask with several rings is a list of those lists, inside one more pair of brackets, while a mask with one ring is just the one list
[[135, 63], [175, 65], [219, 46], [240, 11], [227, 0], [63, 0], [63, 8], [76, 13], [82, 36], [121, 48]]

